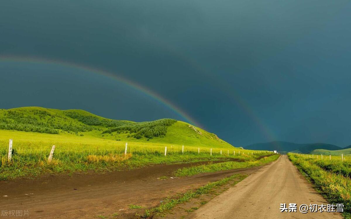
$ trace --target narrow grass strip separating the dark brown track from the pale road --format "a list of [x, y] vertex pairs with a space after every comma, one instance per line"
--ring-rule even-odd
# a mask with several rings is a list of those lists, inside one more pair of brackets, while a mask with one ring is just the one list
[[[237, 181], [233, 182], [231, 185], [237, 184], [238, 182], [245, 179], [246, 177], [247, 177], [246, 174], [234, 174], [233, 176], [226, 177], [226, 178], [218, 180], [216, 182], [208, 183], [207, 185], [201, 186], [194, 191], [185, 192], [185, 193], [181, 194], [179, 197], [166, 200], [164, 203], [162, 203], [158, 207], [154, 207], [154, 208], [145, 210], [145, 215], [143, 216], [143, 218], [151, 218], [156, 214], [161, 215], [163, 213], [166, 213], [169, 210], [172, 210], [172, 208], [174, 208], [176, 205], [181, 204], [181, 203], [185, 203], [185, 202], [191, 200], [192, 198], [198, 198], [202, 194], [208, 194], [211, 191], [213, 191], [214, 189], [217, 189], [217, 188], [229, 183], [233, 179], [237, 179]], [[193, 208], [193, 210], [195, 210], [195, 209]]]

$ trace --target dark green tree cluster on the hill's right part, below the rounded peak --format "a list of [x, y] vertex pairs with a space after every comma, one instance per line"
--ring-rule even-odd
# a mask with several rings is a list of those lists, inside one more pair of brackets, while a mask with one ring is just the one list
[[159, 119], [152, 122], [136, 122], [136, 123], [128, 123], [125, 125], [112, 127], [110, 129], [106, 129], [102, 133], [112, 133], [112, 132], [124, 132], [129, 131], [134, 134], [134, 138], [142, 138], [143, 136], [146, 138], [153, 138], [159, 136], [165, 136], [167, 133], [167, 126], [172, 125], [177, 122], [176, 119]]

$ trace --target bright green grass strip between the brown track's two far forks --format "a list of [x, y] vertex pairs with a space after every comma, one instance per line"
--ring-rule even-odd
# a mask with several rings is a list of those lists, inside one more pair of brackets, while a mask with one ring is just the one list
[[223, 163], [216, 163], [216, 164], [204, 164], [199, 166], [191, 166], [191, 167], [184, 167], [182, 169], [178, 169], [174, 172], [174, 175], [177, 177], [184, 177], [184, 176], [193, 176], [198, 173], [208, 173], [208, 172], [216, 172], [221, 170], [232, 170], [232, 169], [240, 169], [240, 168], [247, 168], [253, 166], [260, 166], [266, 163], [270, 163], [274, 160], [277, 160], [280, 155], [273, 155], [270, 157], [263, 157], [259, 160], [250, 160], [247, 162], [223, 162]]

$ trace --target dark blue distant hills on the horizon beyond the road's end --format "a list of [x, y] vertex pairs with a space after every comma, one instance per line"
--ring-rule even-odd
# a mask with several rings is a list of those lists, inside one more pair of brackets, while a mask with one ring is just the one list
[[351, 148], [347, 146], [345, 148], [340, 148], [339, 146], [332, 144], [324, 144], [324, 143], [313, 143], [313, 144], [296, 144], [292, 142], [283, 142], [283, 141], [274, 141], [274, 142], [266, 142], [266, 143], [256, 143], [247, 145], [244, 149], [250, 150], [269, 150], [269, 151], [281, 151], [281, 152], [299, 152], [299, 153], [307, 153], [316, 149], [325, 149], [325, 150], [340, 150]]

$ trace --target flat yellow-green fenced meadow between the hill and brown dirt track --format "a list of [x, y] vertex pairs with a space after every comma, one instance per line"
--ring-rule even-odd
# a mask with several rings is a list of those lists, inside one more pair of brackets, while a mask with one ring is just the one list
[[[7, 162], [8, 139], [13, 139], [13, 156]], [[48, 163], [52, 145], [55, 151], [52, 162]], [[164, 156], [167, 146], [167, 156]], [[200, 153], [198, 153], [200, 148]], [[211, 145], [182, 145], [154, 142], [128, 142], [127, 155], [124, 155], [125, 142], [93, 136], [60, 135], [0, 130], [0, 180], [17, 177], [37, 177], [48, 173], [72, 173], [75, 171], [112, 171], [138, 168], [152, 164], [198, 162], [219, 159], [240, 158], [254, 151]], [[222, 155], [220, 155], [222, 150]], [[229, 150], [229, 155], [227, 155]], [[238, 151], [240, 150], [240, 156]], [[236, 155], [233, 156], [233, 152]], [[252, 158], [263, 153], [250, 154]]]

